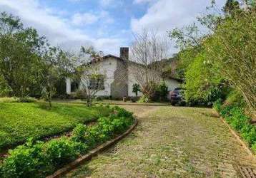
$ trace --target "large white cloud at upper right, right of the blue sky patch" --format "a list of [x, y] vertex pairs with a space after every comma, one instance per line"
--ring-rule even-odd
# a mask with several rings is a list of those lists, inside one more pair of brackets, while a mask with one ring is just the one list
[[[134, 0], [137, 2], [150, 0]], [[218, 0], [217, 4], [224, 4], [225, 0]], [[147, 13], [139, 19], [131, 20], [131, 28], [134, 32], [139, 32], [143, 28], [157, 29], [165, 33], [175, 27], [186, 26], [196, 17], [205, 12], [206, 6], [210, 5], [210, 1], [205, 0], [159, 0], [150, 4]]]

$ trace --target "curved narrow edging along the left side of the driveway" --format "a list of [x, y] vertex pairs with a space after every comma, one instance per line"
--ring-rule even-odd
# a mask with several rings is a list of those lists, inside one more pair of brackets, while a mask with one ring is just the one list
[[103, 150], [106, 150], [108, 147], [111, 147], [112, 145], [117, 143], [119, 140], [122, 140], [122, 138], [129, 135], [129, 133], [132, 132], [132, 130], [134, 130], [134, 127], [136, 127], [137, 124], [138, 124], [138, 120], [135, 118], [134, 124], [131, 127], [129, 127], [129, 129], [126, 132], [124, 132], [122, 135], [119, 135], [118, 137], [115, 137], [114, 139], [109, 140], [109, 141], [105, 142], [102, 145], [99, 145], [99, 147], [94, 148], [87, 155], [79, 157], [78, 159], [76, 159], [73, 162], [67, 164], [66, 166], [62, 167], [61, 169], [58, 169], [56, 172], [54, 172], [54, 174], [51, 174], [51, 175], [47, 176], [46, 178], [61, 177], [62, 175], [67, 174], [67, 172], [76, 168], [80, 164], [83, 164], [84, 162], [89, 161], [90, 159], [92, 159], [92, 157], [97, 156], [99, 154], [99, 152], [102, 152]]

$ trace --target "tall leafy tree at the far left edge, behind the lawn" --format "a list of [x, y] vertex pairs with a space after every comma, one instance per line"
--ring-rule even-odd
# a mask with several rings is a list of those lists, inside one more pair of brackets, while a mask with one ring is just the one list
[[37, 85], [45, 43], [34, 28], [24, 28], [19, 18], [1, 13], [0, 73], [12, 95], [24, 98]]

